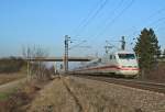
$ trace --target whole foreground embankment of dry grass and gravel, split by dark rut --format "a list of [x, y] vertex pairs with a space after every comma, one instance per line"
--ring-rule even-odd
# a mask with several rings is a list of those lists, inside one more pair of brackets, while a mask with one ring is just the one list
[[165, 94], [79, 77], [61, 77], [29, 104], [29, 112], [165, 112]]

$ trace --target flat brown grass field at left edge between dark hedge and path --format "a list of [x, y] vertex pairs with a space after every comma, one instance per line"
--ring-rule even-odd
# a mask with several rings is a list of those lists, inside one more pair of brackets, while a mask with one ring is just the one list
[[24, 77], [25, 75], [22, 74], [0, 74], [0, 85], [8, 83]]

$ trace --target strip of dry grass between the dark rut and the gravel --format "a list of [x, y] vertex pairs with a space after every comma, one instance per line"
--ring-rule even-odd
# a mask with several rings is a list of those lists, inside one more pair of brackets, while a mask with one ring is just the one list
[[119, 104], [114, 99], [110, 99], [96, 88], [90, 88], [86, 83], [79, 83], [74, 79], [67, 79], [74, 94], [82, 104], [84, 112], [135, 112], [131, 107]]

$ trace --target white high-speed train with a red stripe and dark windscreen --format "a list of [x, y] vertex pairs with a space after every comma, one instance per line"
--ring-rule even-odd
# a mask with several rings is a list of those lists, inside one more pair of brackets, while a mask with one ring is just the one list
[[119, 51], [88, 61], [72, 72], [134, 77], [139, 75], [139, 65], [133, 52]]

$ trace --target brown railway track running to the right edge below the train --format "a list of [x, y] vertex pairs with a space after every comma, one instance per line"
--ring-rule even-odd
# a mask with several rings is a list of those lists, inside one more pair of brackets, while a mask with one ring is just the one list
[[76, 76], [80, 78], [91, 79], [91, 80], [105, 81], [108, 83], [122, 85], [127, 87], [165, 93], [165, 83], [141, 81], [141, 80], [135, 80], [135, 79], [117, 79], [117, 78], [101, 77], [101, 76], [99, 77], [98, 76], [80, 76], [80, 75], [76, 75]]

